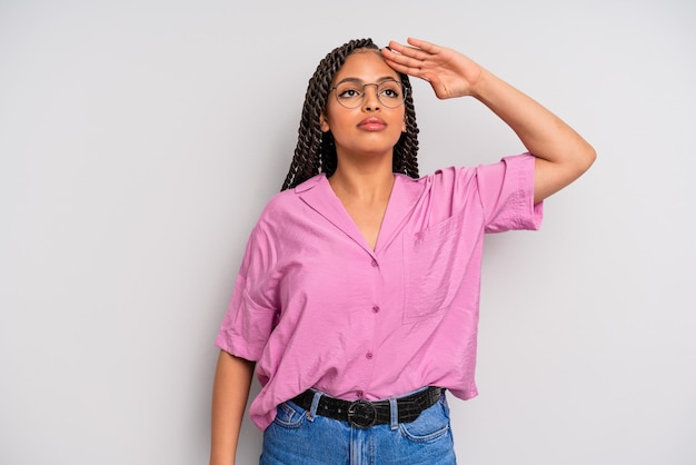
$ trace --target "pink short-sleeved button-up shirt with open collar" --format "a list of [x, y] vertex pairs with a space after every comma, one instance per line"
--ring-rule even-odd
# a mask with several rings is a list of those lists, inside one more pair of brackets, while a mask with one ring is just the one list
[[395, 175], [375, 250], [324, 175], [274, 197], [216, 342], [257, 360], [253, 423], [265, 429], [310, 387], [345, 399], [424, 386], [474, 397], [484, 234], [538, 229], [534, 160]]

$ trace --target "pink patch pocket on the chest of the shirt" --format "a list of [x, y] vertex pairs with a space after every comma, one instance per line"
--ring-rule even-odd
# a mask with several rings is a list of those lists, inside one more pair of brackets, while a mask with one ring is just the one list
[[407, 236], [402, 323], [417, 323], [444, 313], [453, 303], [466, 266], [459, 255], [459, 215]]

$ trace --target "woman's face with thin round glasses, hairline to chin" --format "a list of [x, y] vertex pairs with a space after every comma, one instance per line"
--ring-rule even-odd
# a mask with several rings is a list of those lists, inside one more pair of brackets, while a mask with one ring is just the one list
[[365, 99], [356, 108], [345, 108], [337, 100], [337, 90], [332, 90], [321, 115], [321, 130], [330, 130], [334, 135], [339, 159], [346, 156], [391, 156], [401, 132], [406, 131], [406, 107], [402, 103], [397, 108], [386, 107], [377, 97], [377, 86], [365, 86], [362, 89], [362, 85], [389, 80], [399, 81], [399, 76], [376, 50], [361, 50], [348, 56], [334, 77], [332, 87], [354, 82], [352, 88], [365, 92]]

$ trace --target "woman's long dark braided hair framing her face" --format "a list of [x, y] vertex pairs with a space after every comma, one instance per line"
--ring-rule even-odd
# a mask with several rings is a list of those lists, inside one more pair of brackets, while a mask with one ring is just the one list
[[[326, 109], [334, 76], [346, 61], [346, 58], [356, 50], [379, 50], [371, 39], [351, 40], [329, 52], [317, 67], [305, 95], [302, 116], [298, 129], [295, 156], [290, 164], [288, 176], [282, 185], [286, 190], [298, 186], [319, 172], [331, 176], [336, 171], [338, 159], [336, 145], [330, 131], [321, 131], [319, 118]], [[398, 73], [406, 88], [406, 132], [394, 147], [392, 171], [411, 178], [418, 177], [418, 126], [416, 110], [411, 97], [410, 81], [407, 75]]]

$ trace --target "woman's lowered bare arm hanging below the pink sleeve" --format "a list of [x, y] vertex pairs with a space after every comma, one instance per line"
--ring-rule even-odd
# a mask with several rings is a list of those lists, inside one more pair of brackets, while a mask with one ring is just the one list
[[212, 388], [210, 465], [235, 463], [253, 363], [220, 350]]

